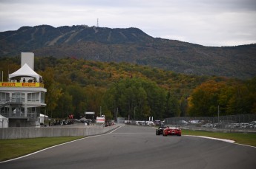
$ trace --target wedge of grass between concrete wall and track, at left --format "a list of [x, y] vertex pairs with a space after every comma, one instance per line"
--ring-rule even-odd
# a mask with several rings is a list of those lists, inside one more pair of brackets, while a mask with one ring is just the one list
[[43, 137], [33, 139], [1, 139], [0, 161], [14, 159], [19, 156], [31, 154], [35, 151], [70, 142], [83, 137]]

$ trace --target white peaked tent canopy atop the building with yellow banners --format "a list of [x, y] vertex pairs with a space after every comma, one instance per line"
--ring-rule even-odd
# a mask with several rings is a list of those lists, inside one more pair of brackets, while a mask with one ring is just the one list
[[35, 77], [36, 80], [39, 81], [41, 76], [33, 71], [33, 69], [31, 69], [27, 63], [24, 63], [24, 65], [19, 70], [9, 75], [9, 79], [12, 79], [13, 77]]

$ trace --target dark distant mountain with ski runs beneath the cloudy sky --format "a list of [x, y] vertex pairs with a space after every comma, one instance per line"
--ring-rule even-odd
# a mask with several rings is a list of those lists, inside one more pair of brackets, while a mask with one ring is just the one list
[[34, 52], [36, 56], [137, 63], [194, 75], [256, 76], [256, 44], [200, 46], [152, 38], [137, 28], [21, 27], [0, 32], [0, 44], [0, 57]]

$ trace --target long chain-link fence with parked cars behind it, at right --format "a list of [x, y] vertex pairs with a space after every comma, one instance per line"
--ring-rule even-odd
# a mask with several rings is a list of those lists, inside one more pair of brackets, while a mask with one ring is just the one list
[[256, 114], [237, 114], [220, 117], [171, 117], [165, 119], [165, 125], [256, 129]]

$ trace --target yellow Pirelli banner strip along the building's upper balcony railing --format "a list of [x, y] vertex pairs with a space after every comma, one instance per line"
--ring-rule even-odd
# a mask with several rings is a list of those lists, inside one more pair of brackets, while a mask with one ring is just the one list
[[44, 88], [43, 83], [39, 82], [1, 82], [0, 87], [42, 87]]

